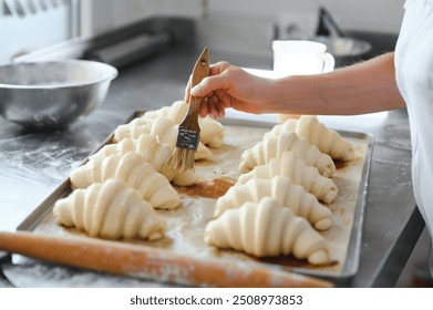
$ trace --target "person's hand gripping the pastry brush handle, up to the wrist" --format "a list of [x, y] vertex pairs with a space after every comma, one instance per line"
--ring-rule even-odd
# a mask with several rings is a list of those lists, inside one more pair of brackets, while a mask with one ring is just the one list
[[227, 107], [260, 114], [266, 112], [270, 99], [270, 83], [272, 80], [249, 74], [228, 62], [218, 62], [210, 66], [210, 75], [193, 89], [189, 79], [185, 101], [189, 102], [190, 95], [204, 97], [199, 112], [203, 117], [208, 114], [224, 117]]

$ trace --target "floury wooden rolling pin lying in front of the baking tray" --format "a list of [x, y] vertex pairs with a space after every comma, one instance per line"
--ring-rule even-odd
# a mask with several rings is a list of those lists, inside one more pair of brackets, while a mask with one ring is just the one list
[[257, 265], [200, 260], [164, 249], [85, 237], [0, 232], [0, 250], [73, 267], [193, 287], [333, 287], [322, 279]]

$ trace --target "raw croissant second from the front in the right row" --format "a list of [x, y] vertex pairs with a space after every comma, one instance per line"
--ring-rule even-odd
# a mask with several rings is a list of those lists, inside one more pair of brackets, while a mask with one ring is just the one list
[[305, 217], [318, 230], [328, 229], [332, 224], [331, 211], [302, 186], [292, 184], [285, 176], [275, 176], [272, 179], [251, 178], [244, 185], [230, 187], [217, 199], [214, 216], [219, 217], [228, 209], [238, 208], [247, 202], [257, 203], [264, 197], [277, 199], [297, 216]]

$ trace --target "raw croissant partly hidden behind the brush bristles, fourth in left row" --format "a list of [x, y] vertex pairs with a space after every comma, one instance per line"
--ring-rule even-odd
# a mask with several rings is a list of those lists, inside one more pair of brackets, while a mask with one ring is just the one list
[[[164, 115], [159, 115], [155, 120], [137, 117], [127, 124], [117, 126], [114, 131], [113, 142], [118, 143], [126, 137], [137, 138], [142, 134], [153, 134], [158, 137], [159, 142], [167, 144], [173, 152], [176, 147], [178, 130], [179, 125]], [[199, 142], [194, 158], [198, 161], [210, 157], [210, 149]]]

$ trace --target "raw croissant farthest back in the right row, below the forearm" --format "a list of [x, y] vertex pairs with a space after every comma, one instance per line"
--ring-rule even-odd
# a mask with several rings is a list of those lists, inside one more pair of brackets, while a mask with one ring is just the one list
[[309, 143], [319, 147], [320, 152], [334, 159], [353, 161], [354, 158], [354, 149], [350, 142], [320, 123], [316, 115], [302, 115], [299, 120], [288, 120], [276, 125], [265, 137], [280, 135], [286, 131], [296, 132], [298, 136], [305, 137]]

